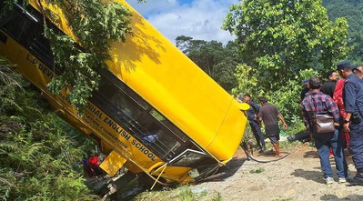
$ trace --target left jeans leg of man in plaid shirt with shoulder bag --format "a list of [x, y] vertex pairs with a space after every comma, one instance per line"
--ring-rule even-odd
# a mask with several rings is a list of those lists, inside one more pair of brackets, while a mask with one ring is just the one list
[[333, 177], [333, 170], [331, 169], [329, 161], [329, 146], [326, 139], [327, 136], [324, 135], [314, 135], [313, 137], [315, 140], [315, 146], [318, 149], [321, 171], [323, 172], [324, 178], [328, 178]]

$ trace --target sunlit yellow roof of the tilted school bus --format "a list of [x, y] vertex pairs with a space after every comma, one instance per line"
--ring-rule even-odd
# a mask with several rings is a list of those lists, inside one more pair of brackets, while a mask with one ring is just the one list
[[133, 13], [135, 35], [125, 44], [112, 44], [110, 69], [197, 144], [208, 146], [226, 116], [231, 95], [126, 6]]

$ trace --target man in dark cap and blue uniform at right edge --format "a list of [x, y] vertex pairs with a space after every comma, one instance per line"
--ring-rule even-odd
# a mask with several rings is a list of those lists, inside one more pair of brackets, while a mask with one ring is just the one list
[[338, 63], [337, 70], [346, 79], [343, 93], [347, 115], [343, 119], [343, 129], [349, 132], [349, 152], [357, 169], [356, 176], [349, 177], [348, 182], [363, 185], [363, 85], [353, 74], [352, 65], [348, 61]]

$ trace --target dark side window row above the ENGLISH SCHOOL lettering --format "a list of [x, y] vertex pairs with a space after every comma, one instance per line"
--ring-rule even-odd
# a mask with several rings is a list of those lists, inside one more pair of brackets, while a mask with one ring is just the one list
[[157, 156], [165, 160], [176, 156], [176, 151], [187, 142], [187, 136], [180, 130], [176, 135], [174, 132], [178, 130], [176, 126], [115, 75], [111, 73], [101, 75], [99, 90], [90, 99], [91, 102], [143, 142]]

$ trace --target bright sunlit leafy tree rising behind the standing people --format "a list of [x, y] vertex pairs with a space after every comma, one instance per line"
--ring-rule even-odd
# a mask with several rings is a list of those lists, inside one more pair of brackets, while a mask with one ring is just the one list
[[224, 28], [237, 36], [243, 58], [232, 93], [249, 93], [255, 101], [266, 96], [300, 129], [302, 81], [345, 57], [347, 21], [329, 21], [320, 0], [247, 0], [230, 7]]

